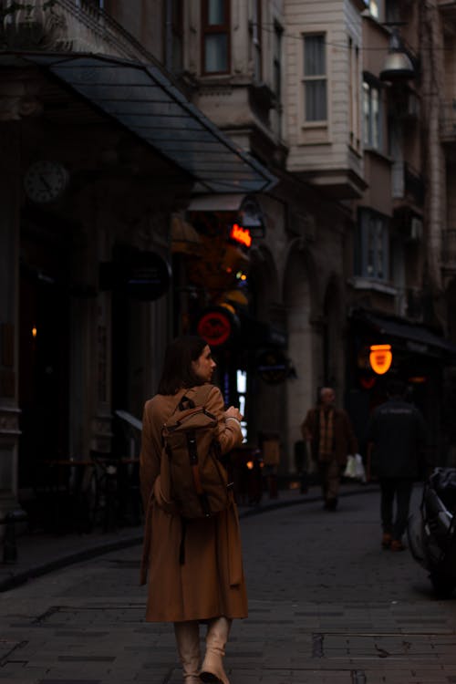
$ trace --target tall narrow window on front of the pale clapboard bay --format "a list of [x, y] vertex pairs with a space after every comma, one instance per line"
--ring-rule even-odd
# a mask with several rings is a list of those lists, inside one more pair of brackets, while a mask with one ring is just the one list
[[324, 35], [304, 36], [304, 119], [326, 121], [326, 40]]

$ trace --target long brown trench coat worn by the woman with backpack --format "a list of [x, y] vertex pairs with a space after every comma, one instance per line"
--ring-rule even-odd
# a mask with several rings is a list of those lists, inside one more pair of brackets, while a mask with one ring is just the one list
[[[181, 622], [225, 616], [247, 617], [247, 596], [236, 504], [213, 518], [187, 522], [185, 563], [179, 563], [181, 517], [165, 513], [154, 494], [160, 474], [161, 426], [181, 400], [156, 395], [146, 402], [140, 451], [145, 532], [141, 583], [149, 571], [146, 620]], [[242, 442], [236, 420], [225, 420], [220, 389], [212, 387], [206, 408], [219, 418], [222, 453]], [[156, 483], [156, 485], [158, 482]]]

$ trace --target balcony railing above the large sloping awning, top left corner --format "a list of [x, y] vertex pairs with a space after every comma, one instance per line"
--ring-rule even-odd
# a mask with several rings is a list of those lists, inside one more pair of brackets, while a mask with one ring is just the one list
[[133, 36], [90, 0], [5, 0], [0, 18], [3, 49], [153, 59]]

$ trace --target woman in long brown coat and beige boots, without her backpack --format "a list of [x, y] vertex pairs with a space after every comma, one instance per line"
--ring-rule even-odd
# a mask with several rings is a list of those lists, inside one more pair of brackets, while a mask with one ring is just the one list
[[[185, 521], [185, 554], [180, 557], [182, 519], [166, 513], [161, 492], [161, 429], [189, 389], [210, 384], [215, 368], [201, 337], [178, 337], [167, 347], [157, 394], [144, 407], [140, 485], [145, 534], [141, 582], [149, 571], [146, 621], [172, 622], [186, 684], [229, 684], [223, 669], [233, 618], [247, 617], [247, 597], [233, 497], [226, 510]], [[242, 415], [224, 409], [220, 389], [211, 386], [205, 408], [218, 420], [223, 456], [243, 441]], [[200, 623], [207, 624], [201, 665]], [[200, 668], [201, 665], [201, 668]]]

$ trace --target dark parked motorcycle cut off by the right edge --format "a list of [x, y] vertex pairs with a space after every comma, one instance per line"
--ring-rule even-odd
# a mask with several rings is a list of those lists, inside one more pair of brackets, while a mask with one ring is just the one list
[[435, 468], [430, 474], [407, 535], [410, 552], [429, 571], [436, 594], [451, 596], [456, 587], [456, 468]]

